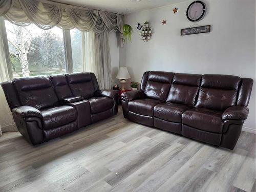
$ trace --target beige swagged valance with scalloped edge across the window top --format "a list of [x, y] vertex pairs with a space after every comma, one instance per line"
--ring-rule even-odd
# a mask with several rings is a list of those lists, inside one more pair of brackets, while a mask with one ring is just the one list
[[48, 0], [0, 0], [0, 16], [15, 25], [33, 23], [41, 29], [58, 26], [61, 29], [77, 28], [83, 32], [93, 30], [98, 35], [106, 29], [119, 30], [123, 39], [123, 15]]

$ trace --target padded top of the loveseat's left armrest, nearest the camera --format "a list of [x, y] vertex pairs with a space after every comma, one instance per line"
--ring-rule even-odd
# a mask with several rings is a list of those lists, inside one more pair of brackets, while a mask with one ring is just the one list
[[20, 117], [39, 117], [42, 118], [41, 112], [33, 108], [33, 106], [23, 105], [23, 106], [17, 106], [12, 110], [12, 113], [14, 113], [17, 116]]

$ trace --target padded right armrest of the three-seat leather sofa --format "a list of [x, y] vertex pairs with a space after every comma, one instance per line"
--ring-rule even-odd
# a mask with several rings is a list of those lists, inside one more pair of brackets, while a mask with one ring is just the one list
[[235, 120], [245, 120], [247, 119], [249, 113], [249, 109], [246, 108], [246, 106], [230, 106], [227, 108], [224, 113], [222, 114], [222, 120], [229, 120], [229, 119], [235, 119]]

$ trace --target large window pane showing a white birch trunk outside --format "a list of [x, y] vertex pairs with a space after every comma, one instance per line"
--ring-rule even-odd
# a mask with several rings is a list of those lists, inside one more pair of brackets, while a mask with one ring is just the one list
[[13, 77], [67, 72], [61, 29], [42, 30], [33, 24], [20, 27], [8, 21], [5, 25]]

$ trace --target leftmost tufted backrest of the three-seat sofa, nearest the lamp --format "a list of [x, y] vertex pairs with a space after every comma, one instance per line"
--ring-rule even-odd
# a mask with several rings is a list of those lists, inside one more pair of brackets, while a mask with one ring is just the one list
[[142, 81], [144, 81], [142, 83], [145, 84], [142, 90], [144, 89], [148, 98], [165, 101], [173, 77], [174, 73], [171, 72], [151, 71], [147, 75], [147, 80], [142, 78]]

